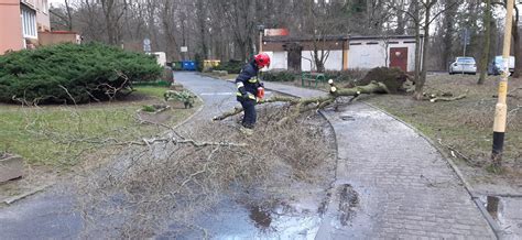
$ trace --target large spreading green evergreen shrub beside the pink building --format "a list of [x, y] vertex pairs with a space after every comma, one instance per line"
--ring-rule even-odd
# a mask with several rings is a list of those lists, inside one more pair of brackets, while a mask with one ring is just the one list
[[[130, 92], [131, 81], [156, 80], [161, 74], [153, 56], [99, 43], [24, 50], [0, 56], [0, 101], [73, 102], [69, 95], [77, 103], [107, 100]], [[113, 88], [121, 91], [108, 95]]]

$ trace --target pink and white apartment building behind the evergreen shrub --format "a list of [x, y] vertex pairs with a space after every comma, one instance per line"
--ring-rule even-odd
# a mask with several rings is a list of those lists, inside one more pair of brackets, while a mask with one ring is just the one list
[[39, 45], [50, 30], [47, 0], [0, 0], [0, 54]]

